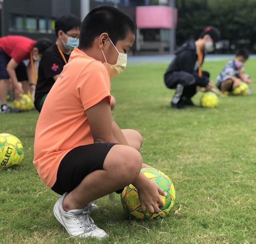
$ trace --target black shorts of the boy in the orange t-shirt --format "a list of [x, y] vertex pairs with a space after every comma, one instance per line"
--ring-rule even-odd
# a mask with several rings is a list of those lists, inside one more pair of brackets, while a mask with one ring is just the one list
[[103, 169], [103, 163], [115, 143], [94, 143], [76, 147], [60, 162], [54, 192], [62, 195], [71, 192], [93, 171]]

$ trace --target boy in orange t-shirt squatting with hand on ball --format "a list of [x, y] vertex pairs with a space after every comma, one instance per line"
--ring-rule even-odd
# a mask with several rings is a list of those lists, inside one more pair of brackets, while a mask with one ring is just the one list
[[33, 163], [42, 181], [62, 195], [54, 215], [72, 236], [107, 236], [90, 218], [91, 202], [130, 183], [143, 211], [163, 206], [165, 192], [140, 173], [148, 167], [139, 153], [141, 135], [121, 130], [110, 110], [110, 76], [125, 69], [135, 35], [134, 22], [120, 10], [92, 10], [38, 118]]

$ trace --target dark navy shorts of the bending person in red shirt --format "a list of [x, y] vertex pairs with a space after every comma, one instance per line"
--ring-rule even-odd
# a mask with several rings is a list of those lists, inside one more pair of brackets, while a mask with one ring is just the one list
[[[2, 50], [0, 50], [0, 79], [9, 79], [9, 74], [6, 71], [7, 64], [11, 58]], [[18, 81], [27, 81], [28, 75], [26, 71], [26, 65], [21, 62], [15, 69]]]

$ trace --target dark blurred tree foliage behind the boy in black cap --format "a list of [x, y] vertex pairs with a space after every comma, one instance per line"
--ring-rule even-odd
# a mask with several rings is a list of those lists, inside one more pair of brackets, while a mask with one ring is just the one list
[[256, 0], [177, 0], [177, 44], [197, 39], [208, 25], [216, 26], [221, 39], [237, 44], [256, 43]]

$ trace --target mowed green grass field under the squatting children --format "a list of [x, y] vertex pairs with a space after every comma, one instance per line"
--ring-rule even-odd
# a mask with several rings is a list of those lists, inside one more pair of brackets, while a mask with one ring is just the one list
[[[207, 61], [215, 80], [225, 61]], [[174, 93], [163, 82], [167, 64], [128, 66], [112, 80], [113, 116], [121, 128], [144, 137], [144, 162], [173, 181], [176, 202], [166, 218], [129, 220], [115, 194], [96, 200], [91, 216], [109, 237], [99, 241], [68, 236], [52, 209], [58, 194], [33, 166], [37, 111], [0, 115], [0, 133], [23, 143], [22, 164], [0, 170], [0, 243], [254, 244], [256, 243], [256, 80], [253, 95], [220, 97], [215, 109], [170, 108]], [[256, 60], [246, 72], [256, 77]], [[193, 101], [199, 104], [198, 93]]]

